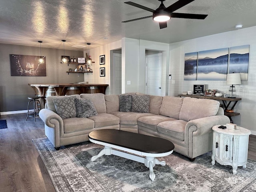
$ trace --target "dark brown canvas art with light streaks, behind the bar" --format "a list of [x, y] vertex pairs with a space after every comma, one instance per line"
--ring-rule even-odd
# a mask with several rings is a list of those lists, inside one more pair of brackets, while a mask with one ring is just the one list
[[40, 56], [10, 54], [11, 76], [46, 76], [46, 57], [43, 64]]

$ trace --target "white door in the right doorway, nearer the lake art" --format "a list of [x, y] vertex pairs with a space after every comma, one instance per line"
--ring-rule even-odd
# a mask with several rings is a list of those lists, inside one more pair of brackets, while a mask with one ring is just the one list
[[146, 94], [161, 96], [162, 53], [146, 55]]

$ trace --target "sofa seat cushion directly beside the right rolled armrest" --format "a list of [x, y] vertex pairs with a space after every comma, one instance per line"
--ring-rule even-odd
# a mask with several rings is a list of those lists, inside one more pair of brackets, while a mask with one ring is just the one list
[[183, 120], [164, 121], [157, 125], [158, 132], [184, 140], [184, 131], [187, 122]]

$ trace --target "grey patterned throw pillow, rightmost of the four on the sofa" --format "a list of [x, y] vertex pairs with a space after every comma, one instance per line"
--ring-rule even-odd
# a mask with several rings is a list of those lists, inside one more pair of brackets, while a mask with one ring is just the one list
[[132, 95], [132, 112], [149, 113], [149, 95]]

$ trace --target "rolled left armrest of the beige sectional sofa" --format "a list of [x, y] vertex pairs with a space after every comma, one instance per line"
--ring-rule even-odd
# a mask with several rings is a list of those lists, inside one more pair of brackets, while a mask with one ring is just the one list
[[62, 118], [56, 114], [55, 112], [49, 109], [41, 109], [39, 111], [39, 117], [43, 120], [46, 126], [51, 128], [59, 128], [63, 127], [63, 120]]

